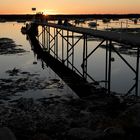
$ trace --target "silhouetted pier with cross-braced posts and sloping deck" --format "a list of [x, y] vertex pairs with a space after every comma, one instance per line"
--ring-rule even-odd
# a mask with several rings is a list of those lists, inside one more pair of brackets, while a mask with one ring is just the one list
[[[140, 57], [140, 38], [135, 34], [128, 33], [117, 33], [110, 31], [93, 30], [83, 27], [75, 27], [64, 24], [48, 23], [47, 21], [36, 21], [31, 24], [29, 29], [29, 36], [34, 41], [33, 33], [34, 30], [41, 27], [41, 31], [36, 36], [36, 39], [40, 41], [42, 48], [53, 58], [61, 62], [61, 64], [67, 66], [73, 72], [76, 72], [84, 80], [87, 78], [91, 79], [95, 84], [96, 80], [93, 79], [87, 72], [88, 59], [96, 52], [96, 50], [103, 44], [105, 44], [105, 88], [108, 93], [111, 93], [111, 63], [112, 63], [112, 52], [115, 52], [122, 61], [130, 68], [135, 74], [135, 83], [128, 90], [126, 95], [130, 94], [135, 89], [135, 94], [138, 95], [138, 84], [139, 84], [139, 57]], [[78, 34], [78, 35], [77, 35]], [[76, 37], [76, 39], [75, 39]], [[88, 38], [94, 37], [99, 38], [100, 43], [95, 46], [95, 48], [88, 52]], [[61, 38], [61, 39], [60, 39]], [[74, 66], [74, 51], [78, 42], [83, 41], [82, 50], [82, 72], [80, 72]], [[61, 42], [61, 43], [60, 43]], [[119, 51], [114, 47], [113, 42], [129, 45], [129, 49], [134, 49], [136, 51], [136, 65], [135, 68], [119, 53]], [[61, 44], [61, 45], [60, 45]], [[61, 50], [61, 55], [59, 51]], [[81, 85], [82, 87], [82, 85]]]

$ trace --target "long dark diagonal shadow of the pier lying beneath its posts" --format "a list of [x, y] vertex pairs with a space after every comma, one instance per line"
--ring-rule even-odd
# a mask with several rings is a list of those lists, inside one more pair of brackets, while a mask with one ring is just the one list
[[34, 35], [28, 35], [28, 39], [37, 58], [45, 62], [79, 97], [105, 93], [105, 89], [96, 88], [95, 85], [88, 83], [76, 72], [44, 51]]

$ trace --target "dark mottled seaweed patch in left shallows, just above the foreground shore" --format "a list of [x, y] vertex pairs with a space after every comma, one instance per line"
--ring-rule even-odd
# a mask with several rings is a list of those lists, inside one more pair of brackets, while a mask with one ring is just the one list
[[7, 70], [8, 78], [0, 79], [0, 98], [7, 100], [18, 92], [28, 90], [43, 90], [53, 88], [63, 88], [63, 83], [59, 79], [46, 79], [39, 77], [39, 74], [32, 74], [17, 68]]

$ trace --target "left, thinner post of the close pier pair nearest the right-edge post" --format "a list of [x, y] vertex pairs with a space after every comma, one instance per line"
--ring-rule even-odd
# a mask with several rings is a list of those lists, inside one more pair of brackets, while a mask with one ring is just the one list
[[106, 59], [105, 59], [105, 88], [107, 89], [107, 77], [108, 77], [108, 40], [106, 41]]

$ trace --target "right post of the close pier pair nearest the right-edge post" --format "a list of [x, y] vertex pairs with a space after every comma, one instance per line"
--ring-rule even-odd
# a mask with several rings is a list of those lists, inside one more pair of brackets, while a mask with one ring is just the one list
[[112, 49], [112, 43], [109, 42], [109, 66], [108, 66], [108, 93], [110, 94], [111, 89], [111, 49]]

